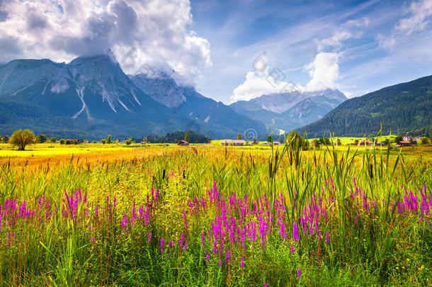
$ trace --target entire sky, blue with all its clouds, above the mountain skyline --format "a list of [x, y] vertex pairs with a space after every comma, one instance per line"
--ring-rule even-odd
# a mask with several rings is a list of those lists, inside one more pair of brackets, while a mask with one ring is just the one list
[[353, 97], [431, 75], [431, 20], [432, 0], [0, 0], [0, 62], [110, 49], [127, 74], [166, 72], [224, 103]]

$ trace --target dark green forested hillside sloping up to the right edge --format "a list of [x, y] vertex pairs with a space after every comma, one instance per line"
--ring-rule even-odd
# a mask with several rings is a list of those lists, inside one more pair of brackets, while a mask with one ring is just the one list
[[432, 76], [389, 86], [349, 99], [321, 120], [297, 131], [309, 137], [402, 134], [418, 128], [432, 128]]

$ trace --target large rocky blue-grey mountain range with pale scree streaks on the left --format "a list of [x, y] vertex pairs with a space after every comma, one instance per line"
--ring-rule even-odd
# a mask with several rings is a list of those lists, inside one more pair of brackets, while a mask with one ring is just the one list
[[250, 127], [265, 132], [261, 123], [169, 77], [148, 86], [135, 84], [109, 52], [69, 64], [13, 60], [0, 67], [3, 134], [29, 128], [55, 137], [99, 139], [194, 130], [215, 138], [234, 137]]

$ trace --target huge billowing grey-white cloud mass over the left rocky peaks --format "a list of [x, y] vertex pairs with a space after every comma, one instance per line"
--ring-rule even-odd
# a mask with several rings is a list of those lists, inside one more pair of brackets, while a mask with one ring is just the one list
[[174, 69], [191, 84], [211, 62], [210, 43], [188, 28], [188, 0], [7, 0], [0, 1], [0, 61], [12, 57], [68, 62], [111, 49], [125, 69]]

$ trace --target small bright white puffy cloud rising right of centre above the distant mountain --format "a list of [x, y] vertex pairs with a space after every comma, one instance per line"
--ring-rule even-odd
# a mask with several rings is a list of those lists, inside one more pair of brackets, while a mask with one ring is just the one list
[[336, 89], [335, 81], [339, 78], [339, 54], [320, 52], [315, 56], [313, 62], [305, 69], [312, 79], [307, 83], [307, 91], [318, 91], [322, 89]]

